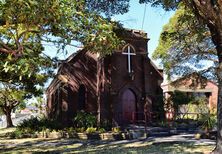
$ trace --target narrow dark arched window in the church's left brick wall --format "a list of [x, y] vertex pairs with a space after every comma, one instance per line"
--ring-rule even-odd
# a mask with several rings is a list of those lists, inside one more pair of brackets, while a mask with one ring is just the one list
[[78, 90], [78, 104], [77, 109], [78, 110], [84, 110], [86, 104], [86, 88], [84, 85], [79, 86]]

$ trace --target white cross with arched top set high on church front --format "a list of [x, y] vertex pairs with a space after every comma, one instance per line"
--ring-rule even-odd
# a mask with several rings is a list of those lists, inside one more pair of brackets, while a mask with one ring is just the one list
[[128, 69], [128, 72], [131, 73], [132, 72], [132, 58], [131, 57], [136, 55], [135, 48], [132, 45], [127, 44], [126, 46], [123, 47], [122, 54], [127, 55], [127, 69]]

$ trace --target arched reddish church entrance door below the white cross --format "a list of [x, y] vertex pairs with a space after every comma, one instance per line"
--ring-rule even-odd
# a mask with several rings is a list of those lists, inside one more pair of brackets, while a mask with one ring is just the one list
[[130, 89], [126, 89], [122, 95], [122, 115], [125, 123], [131, 123], [136, 112], [136, 96]]

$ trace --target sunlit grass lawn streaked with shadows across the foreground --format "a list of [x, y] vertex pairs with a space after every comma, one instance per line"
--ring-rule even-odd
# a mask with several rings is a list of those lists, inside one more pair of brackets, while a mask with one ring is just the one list
[[14, 129], [0, 129], [0, 153], [209, 153], [214, 145], [153, 140], [82, 141], [77, 139], [8, 139], [4, 134]]

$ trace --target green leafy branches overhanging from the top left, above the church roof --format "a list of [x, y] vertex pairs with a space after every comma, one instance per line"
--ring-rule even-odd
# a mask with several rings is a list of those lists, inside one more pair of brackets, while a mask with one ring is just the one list
[[[29, 38], [54, 43], [65, 50], [73, 41], [102, 54], [119, 44], [110, 22], [113, 14], [128, 10], [129, 0], [6, 0], [0, 1], [0, 52], [21, 56]], [[108, 18], [107, 18], [108, 17]], [[33, 40], [32, 40], [33, 41]]]

